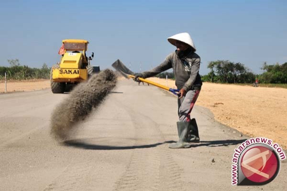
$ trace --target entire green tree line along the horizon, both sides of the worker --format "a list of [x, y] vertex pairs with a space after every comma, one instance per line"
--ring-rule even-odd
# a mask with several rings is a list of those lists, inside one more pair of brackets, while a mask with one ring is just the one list
[[[43, 64], [42, 68], [30, 68], [21, 66], [19, 59], [8, 60], [10, 67], [0, 66], [0, 80], [4, 79], [6, 72], [7, 79], [13, 80], [29, 80], [29, 79], [49, 79], [50, 70], [47, 64]], [[211, 61], [207, 66], [210, 72], [202, 75], [201, 79], [205, 82], [217, 83], [253, 83], [256, 79], [259, 83], [286, 84], [287, 83], [287, 62], [284, 64], [268, 65], [263, 63], [261, 69], [262, 74], [254, 74], [244, 64], [240, 62], [230, 62], [229, 60]], [[173, 72], [162, 72], [156, 77], [175, 79]]]

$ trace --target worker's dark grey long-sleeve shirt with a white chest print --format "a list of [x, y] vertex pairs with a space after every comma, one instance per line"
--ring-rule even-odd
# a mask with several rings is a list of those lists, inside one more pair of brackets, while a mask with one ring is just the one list
[[195, 52], [190, 52], [185, 58], [180, 59], [176, 52], [169, 54], [166, 59], [150, 71], [143, 72], [144, 78], [149, 78], [170, 68], [173, 69], [175, 85], [186, 92], [202, 85], [199, 75], [200, 57]]

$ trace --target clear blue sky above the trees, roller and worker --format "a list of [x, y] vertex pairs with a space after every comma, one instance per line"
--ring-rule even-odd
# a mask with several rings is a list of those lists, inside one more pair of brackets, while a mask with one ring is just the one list
[[[166, 40], [188, 32], [201, 57], [200, 74], [214, 60], [241, 62], [255, 73], [287, 62], [287, 1], [2, 1], [0, 66], [52, 66], [61, 40], [90, 42], [102, 69], [120, 59], [149, 70], [175, 50]], [[141, 67], [140, 67], [141, 66]]]

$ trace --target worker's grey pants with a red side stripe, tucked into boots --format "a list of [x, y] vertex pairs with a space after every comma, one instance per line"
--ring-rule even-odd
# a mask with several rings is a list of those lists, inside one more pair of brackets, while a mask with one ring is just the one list
[[191, 120], [190, 113], [197, 100], [200, 90], [189, 90], [184, 97], [177, 99], [179, 121]]

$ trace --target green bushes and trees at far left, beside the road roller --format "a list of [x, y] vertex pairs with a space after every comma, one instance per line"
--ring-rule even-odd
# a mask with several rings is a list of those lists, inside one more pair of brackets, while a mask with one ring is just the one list
[[10, 67], [0, 66], [0, 80], [4, 80], [5, 72], [7, 80], [30, 80], [30, 79], [49, 79], [50, 70], [46, 63], [42, 68], [30, 68], [21, 66], [19, 59], [8, 60]]

